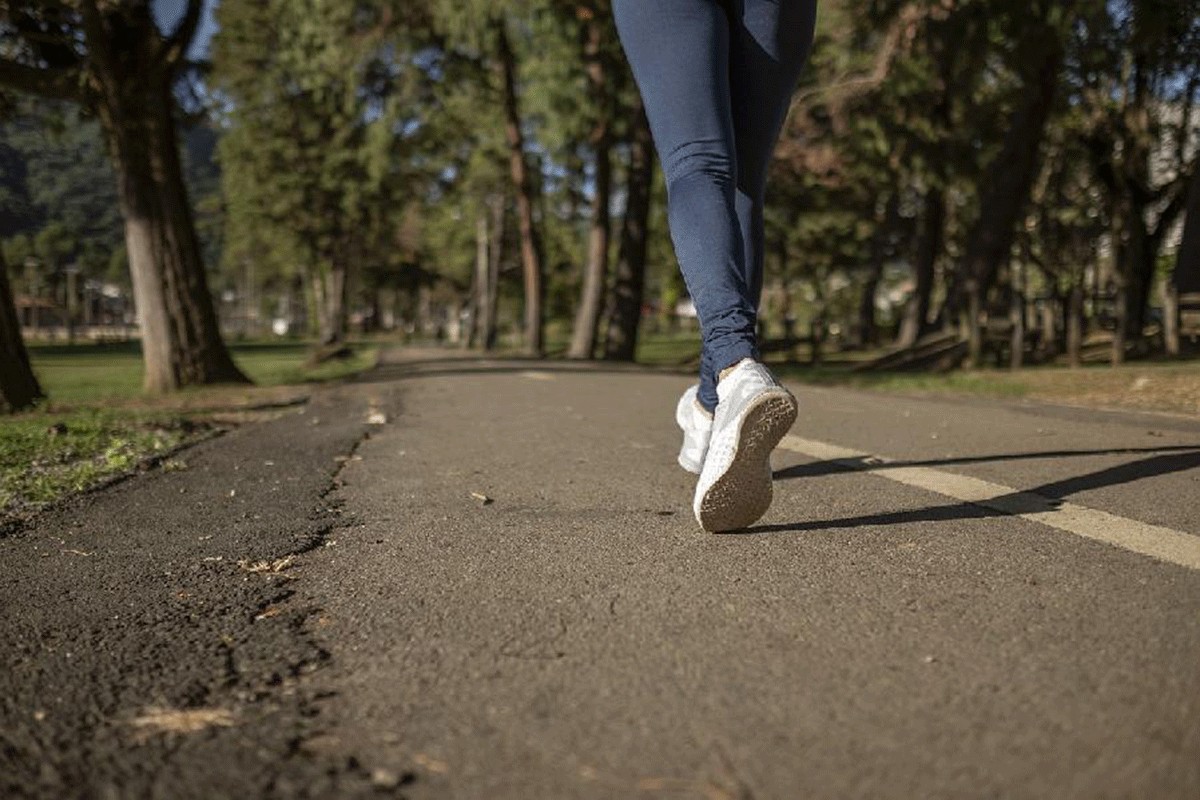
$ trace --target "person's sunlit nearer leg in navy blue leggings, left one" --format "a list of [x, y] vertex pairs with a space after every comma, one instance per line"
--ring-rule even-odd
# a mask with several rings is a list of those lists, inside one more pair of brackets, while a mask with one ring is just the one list
[[613, 16], [666, 176], [671, 239], [703, 338], [698, 399], [712, 411], [716, 374], [757, 357], [734, 199], [730, 19], [716, 0], [614, 0]]

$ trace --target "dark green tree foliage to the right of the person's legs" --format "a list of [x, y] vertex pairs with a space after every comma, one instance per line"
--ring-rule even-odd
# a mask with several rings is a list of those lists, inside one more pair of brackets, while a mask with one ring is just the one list
[[[968, 236], [991, 213], [988, 169], [1054, 48], [1064, 66], [1013, 251], [1031, 267], [1024, 290], [1061, 296], [1084, 281], [1105, 290], [1115, 224], [1148, 225], [1116, 234], [1116, 275], [1139, 258], [1123, 242], [1166, 246], [1200, 140], [1200, 2], [877, 0], [862, 13], [829, 0], [820, 12], [768, 200], [779, 277], [799, 277], [828, 303], [835, 284], [857, 293], [881, 253], [907, 269], [924, 199], [937, 193], [935, 294], [953, 305]], [[991, 285], [1002, 308], [1006, 275]]]

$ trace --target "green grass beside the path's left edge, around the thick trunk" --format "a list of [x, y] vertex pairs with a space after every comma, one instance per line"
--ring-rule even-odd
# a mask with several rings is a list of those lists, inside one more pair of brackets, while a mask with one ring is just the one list
[[[373, 366], [378, 355], [378, 345], [365, 344], [349, 359], [308, 367], [304, 343], [245, 343], [232, 349], [254, 386], [146, 397], [136, 343], [31, 347], [30, 359], [49, 402], [0, 417], [0, 524], [154, 462], [253, 409], [299, 402], [306, 385], [355, 375]], [[160, 465], [184, 464], [167, 458]]]

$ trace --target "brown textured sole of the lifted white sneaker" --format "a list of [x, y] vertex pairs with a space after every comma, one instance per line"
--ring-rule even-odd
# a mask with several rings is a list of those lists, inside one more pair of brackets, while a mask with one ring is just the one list
[[796, 398], [764, 392], [742, 415], [733, 462], [701, 498], [696, 519], [709, 533], [740, 530], [770, 507], [770, 452], [796, 422]]

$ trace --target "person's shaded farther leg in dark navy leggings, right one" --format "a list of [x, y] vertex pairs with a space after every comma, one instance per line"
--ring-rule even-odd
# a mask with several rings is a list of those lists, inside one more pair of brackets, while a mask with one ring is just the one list
[[762, 300], [763, 193], [800, 70], [812, 46], [816, 0], [731, 0], [730, 92], [737, 142], [737, 215], [744, 281]]

